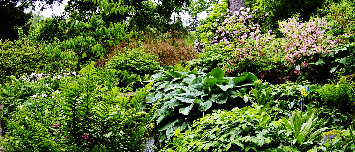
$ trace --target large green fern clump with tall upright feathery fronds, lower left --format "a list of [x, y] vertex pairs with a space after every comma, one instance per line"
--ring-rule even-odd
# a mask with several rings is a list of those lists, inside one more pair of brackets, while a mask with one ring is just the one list
[[11, 119], [5, 119], [8, 133], [1, 142], [7, 151], [140, 150], [153, 127], [151, 115], [156, 107], [143, 104], [152, 83], [129, 98], [121, 96], [118, 87], [107, 91], [93, 62], [79, 74], [73, 80], [62, 80], [62, 91], [52, 98], [56, 104], [48, 103], [54, 108], [32, 113], [33, 107], [24, 104]]

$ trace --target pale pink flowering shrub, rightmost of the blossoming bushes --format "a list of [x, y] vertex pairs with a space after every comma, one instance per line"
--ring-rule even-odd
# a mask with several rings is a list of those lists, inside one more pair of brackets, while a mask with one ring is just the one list
[[[322, 57], [332, 52], [340, 39], [326, 35], [332, 29], [325, 18], [315, 18], [307, 22], [300, 22], [298, 18], [289, 18], [289, 21], [279, 23], [280, 31], [285, 34], [283, 49], [286, 53], [285, 64], [288, 66], [288, 75], [308, 76], [301, 79], [310, 79], [317, 76], [320, 79], [324, 64]], [[301, 70], [295, 70], [295, 66]], [[312, 72], [313, 71], [313, 72]], [[328, 70], [329, 71], [329, 70]], [[308, 77], [308, 78], [307, 78]]]

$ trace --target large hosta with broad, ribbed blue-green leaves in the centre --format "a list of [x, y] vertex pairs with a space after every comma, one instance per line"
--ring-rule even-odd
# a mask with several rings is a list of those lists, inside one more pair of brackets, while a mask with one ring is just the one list
[[[147, 96], [148, 103], [158, 103], [154, 114], [159, 125], [160, 142], [170, 139], [175, 130], [185, 130], [194, 119], [211, 113], [213, 109], [244, 107], [247, 101], [236, 94], [246, 93], [257, 77], [244, 72], [238, 77], [224, 77], [224, 71], [216, 67], [208, 74], [168, 71], [153, 75], [154, 84]], [[191, 121], [192, 120], [192, 121]]]

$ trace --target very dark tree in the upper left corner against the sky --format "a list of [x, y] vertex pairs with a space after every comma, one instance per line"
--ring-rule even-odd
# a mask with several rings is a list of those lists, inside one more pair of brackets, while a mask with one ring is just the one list
[[[31, 23], [28, 23], [32, 13], [25, 13], [25, 7], [16, 7], [18, 0], [0, 0], [0, 39], [18, 39], [17, 27], [23, 26], [27, 33]], [[27, 24], [28, 23], [28, 24]]]

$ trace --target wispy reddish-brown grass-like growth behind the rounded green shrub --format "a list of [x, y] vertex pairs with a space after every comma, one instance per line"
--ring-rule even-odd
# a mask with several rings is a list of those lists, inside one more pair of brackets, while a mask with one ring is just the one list
[[147, 53], [159, 56], [160, 66], [176, 65], [179, 61], [186, 62], [197, 59], [197, 54], [195, 53], [194, 48], [186, 46], [184, 40], [180, 37], [181, 33], [178, 31], [164, 34], [159, 34], [154, 31], [141, 32], [140, 46], [138, 46], [137, 40], [121, 42], [120, 45], [108, 48], [104, 59], [98, 60], [95, 65], [97, 67], [104, 66], [109, 58], [114, 56], [118, 51], [123, 52], [124, 48], [133, 49], [141, 46], [143, 46]]

